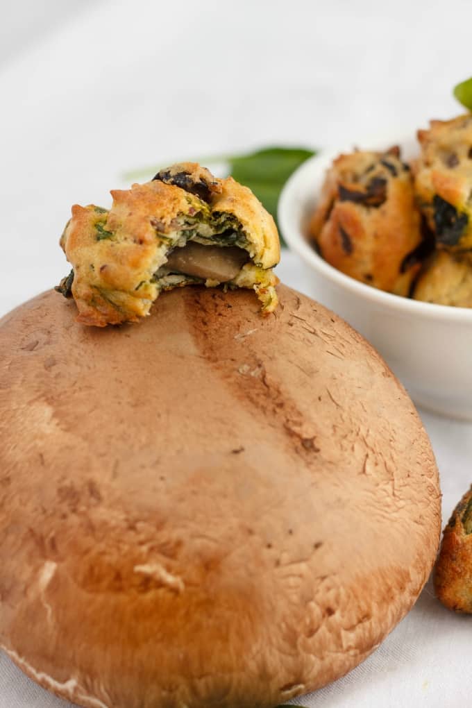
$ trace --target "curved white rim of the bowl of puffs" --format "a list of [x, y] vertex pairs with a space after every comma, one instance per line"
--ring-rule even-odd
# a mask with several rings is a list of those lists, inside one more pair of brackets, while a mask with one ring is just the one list
[[[410, 137], [405, 137], [402, 140], [397, 140], [399, 144], [411, 142]], [[370, 141], [367, 141], [370, 142]], [[378, 141], [376, 141], [377, 143]], [[390, 141], [392, 142], [392, 141]], [[388, 144], [388, 141], [386, 141]], [[373, 147], [372, 149], [379, 149]], [[302, 188], [307, 185], [307, 181], [313, 182], [313, 198], [316, 195], [316, 181], [323, 176], [324, 171], [335, 157], [342, 152], [352, 152], [352, 148], [343, 149], [327, 149], [320, 151], [318, 154], [310, 157], [301, 166], [299, 166], [289, 177], [280, 193], [279, 204], [277, 208], [277, 217], [280, 224], [280, 231], [284, 236], [285, 241], [290, 249], [295, 251], [302, 260], [306, 261], [313, 270], [318, 271], [328, 280], [335, 282], [336, 285], [357, 295], [359, 298], [368, 299], [372, 302], [384, 305], [388, 309], [396, 309], [405, 314], [419, 314], [427, 319], [447, 320], [451, 322], [464, 322], [472, 324], [472, 308], [454, 307], [453, 305], [442, 305], [434, 302], [422, 302], [401, 295], [393, 295], [391, 292], [384, 292], [372, 285], [367, 285], [364, 282], [351, 278], [350, 275], [341, 273], [340, 270], [334, 268], [321, 258], [316, 251], [309, 245], [304, 236], [301, 225], [302, 215], [300, 214], [297, 204], [302, 207], [307, 206], [306, 198], [301, 200], [299, 193]], [[315, 169], [316, 166], [316, 169]]]

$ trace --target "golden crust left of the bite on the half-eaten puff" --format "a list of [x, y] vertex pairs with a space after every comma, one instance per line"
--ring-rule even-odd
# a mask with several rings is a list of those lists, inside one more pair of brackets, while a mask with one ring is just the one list
[[62, 239], [82, 324], [135, 322], [149, 314], [159, 295], [152, 277], [166, 261], [166, 234], [179, 215], [204, 208], [194, 195], [161, 181], [111, 194], [110, 212], [72, 207]]

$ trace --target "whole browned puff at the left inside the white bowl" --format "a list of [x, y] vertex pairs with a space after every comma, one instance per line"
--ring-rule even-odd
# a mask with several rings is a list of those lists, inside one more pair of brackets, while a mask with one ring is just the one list
[[381, 290], [408, 295], [422, 241], [413, 180], [393, 147], [340, 155], [328, 171], [309, 232], [338, 270]]

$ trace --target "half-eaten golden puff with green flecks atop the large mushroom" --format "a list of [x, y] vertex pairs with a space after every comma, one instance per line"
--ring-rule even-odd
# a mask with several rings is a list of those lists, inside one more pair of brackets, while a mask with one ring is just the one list
[[251, 288], [264, 314], [277, 307], [277, 227], [247, 187], [187, 162], [111, 195], [109, 211], [72, 207], [61, 236], [73, 270], [56, 290], [78, 321], [136, 322], [162, 290], [195, 284]]

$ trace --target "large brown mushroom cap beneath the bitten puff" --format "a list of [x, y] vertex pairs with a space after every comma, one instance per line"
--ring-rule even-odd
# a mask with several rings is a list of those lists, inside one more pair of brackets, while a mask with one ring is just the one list
[[262, 708], [365, 658], [439, 542], [401, 384], [280, 287], [186, 288], [139, 326], [46, 292], [0, 323], [0, 645], [90, 708]]

